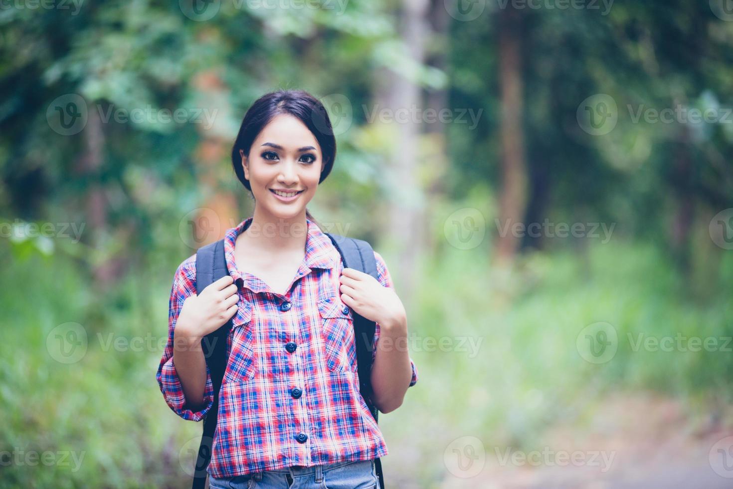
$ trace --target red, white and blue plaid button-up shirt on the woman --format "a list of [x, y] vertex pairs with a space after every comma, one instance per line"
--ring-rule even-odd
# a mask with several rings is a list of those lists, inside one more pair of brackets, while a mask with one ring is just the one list
[[[339, 251], [310, 219], [306, 255], [285, 295], [235, 265], [235, 240], [252, 218], [227, 229], [224, 253], [239, 287], [227, 337], [229, 363], [219, 394], [218, 422], [207, 471], [233, 477], [288, 466], [372, 460], [388, 454], [382, 433], [359, 393], [353, 315], [339, 298]], [[375, 251], [379, 282], [394, 287]], [[158, 367], [167, 404], [183, 419], [211, 408], [207, 367], [205, 405], [185, 404], [173, 364], [173, 332], [183, 301], [196, 292], [196, 254], [178, 267], [169, 302], [168, 344]], [[380, 327], [375, 328], [375, 345]], [[372, 359], [376, 356], [374, 349]], [[412, 359], [412, 380], [417, 370]]]

